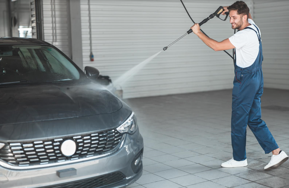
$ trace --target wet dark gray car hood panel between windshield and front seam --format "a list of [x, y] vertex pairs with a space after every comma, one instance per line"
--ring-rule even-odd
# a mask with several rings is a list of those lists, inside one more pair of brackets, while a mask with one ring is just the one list
[[0, 88], [0, 126], [114, 113], [122, 102], [95, 83]]

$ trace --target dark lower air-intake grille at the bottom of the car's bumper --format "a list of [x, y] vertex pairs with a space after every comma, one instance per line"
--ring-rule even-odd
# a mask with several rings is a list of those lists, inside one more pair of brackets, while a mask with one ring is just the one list
[[48, 187], [41, 187], [41, 188], [100, 188], [106, 187], [108, 185], [113, 185], [119, 183], [125, 179], [125, 176], [120, 173], [111, 173], [106, 174], [103, 176], [93, 177], [89, 179], [73, 181], [64, 184], [52, 185]]

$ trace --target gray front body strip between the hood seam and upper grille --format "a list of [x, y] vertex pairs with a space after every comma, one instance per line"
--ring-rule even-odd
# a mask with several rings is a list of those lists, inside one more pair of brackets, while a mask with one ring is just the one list
[[31, 142], [111, 130], [121, 125], [131, 113], [130, 107], [123, 103], [120, 110], [110, 114], [2, 125], [0, 142]]

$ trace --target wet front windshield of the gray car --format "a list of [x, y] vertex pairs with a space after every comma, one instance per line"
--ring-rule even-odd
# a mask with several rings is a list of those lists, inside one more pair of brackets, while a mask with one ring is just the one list
[[88, 79], [50, 46], [0, 46], [0, 84], [23, 80], [79, 83]]

